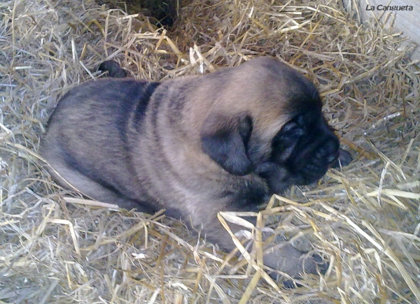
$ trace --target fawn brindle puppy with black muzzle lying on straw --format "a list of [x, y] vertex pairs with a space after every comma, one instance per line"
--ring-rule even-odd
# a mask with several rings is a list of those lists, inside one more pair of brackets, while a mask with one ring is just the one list
[[[339, 159], [321, 107], [314, 85], [271, 57], [164, 82], [91, 80], [59, 101], [41, 155], [64, 187], [122, 208], [165, 208], [232, 250], [218, 212], [258, 211]], [[289, 244], [264, 259], [291, 276], [316, 273], [314, 257]]]

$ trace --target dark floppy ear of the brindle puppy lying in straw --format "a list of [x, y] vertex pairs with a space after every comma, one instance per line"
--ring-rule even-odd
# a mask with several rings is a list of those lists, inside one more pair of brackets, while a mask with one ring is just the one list
[[230, 174], [246, 175], [252, 170], [247, 155], [251, 132], [252, 120], [248, 115], [229, 117], [211, 113], [200, 133], [202, 149]]

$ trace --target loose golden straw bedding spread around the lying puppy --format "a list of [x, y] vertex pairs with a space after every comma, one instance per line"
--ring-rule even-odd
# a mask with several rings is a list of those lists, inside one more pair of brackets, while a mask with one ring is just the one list
[[[404, 38], [340, 4], [196, 0], [165, 30], [90, 0], [1, 1], [0, 303], [420, 303], [419, 70]], [[328, 259], [325, 275], [285, 289], [258, 247], [236, 259], [162, 214], [83, 200], [43, 171], [48, 115], [105, 59], [162, 80], [258, 55], [316, 83], [355, 156], [259, 215]]]

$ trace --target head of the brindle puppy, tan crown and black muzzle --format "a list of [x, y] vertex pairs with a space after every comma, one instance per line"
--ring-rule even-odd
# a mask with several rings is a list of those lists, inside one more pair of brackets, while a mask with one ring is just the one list
[[258, 173], [288, 187], [315, 182], [337, 160], [339, 140], [321, 113], [318, 91], [293, 68], [260, 57], [213, 74], [223, 85], [200, 137], [225, 171]]

